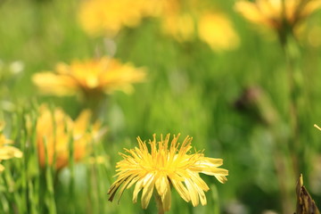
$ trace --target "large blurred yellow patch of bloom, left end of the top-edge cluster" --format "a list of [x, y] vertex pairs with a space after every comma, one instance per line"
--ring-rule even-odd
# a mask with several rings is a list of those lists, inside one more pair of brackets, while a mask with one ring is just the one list
[[90, 35], [115, 36], [124, 27], [134, 28], [155, 14], [159, 0], [87, 0], [80, 4], [78, 18]]

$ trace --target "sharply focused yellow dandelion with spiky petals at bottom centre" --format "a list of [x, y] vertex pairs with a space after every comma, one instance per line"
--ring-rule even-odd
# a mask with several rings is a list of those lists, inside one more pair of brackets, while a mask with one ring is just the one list
[[209, 190], [209, 186], [202, 180], [199, 173], [214, 176], [219, 182], [225, 183], [228, 171], [219, 169], [223, 164], [222, 159], [204, 157], [203, 152], [190, 152], [192, 137], [186, 136], [182, 144], [177, 142], [178, 136], [174, 136], [169, 144], [169, 135], [161, 141], [156, 141], [156, 136], [149, 142], [151, 152], [147, 145], [137, 137], [139, 147], [126, 150], [128, 154], [120, 153], [124, 158], [117, 163], [117, 180], [111, 185], [109, 190], [112, 201], [119, 190], [119, 199], [123, 191], [135, 185], [133, 202], [137, 201], [138, 193], [142, 193], [142, 207], [146, 209], [154, 188], [161, 197], [163, 210], [170, 209], [171, 186], [185, 200], [192, 201], [193, 206], [197, 206], [201, 201], [202, 205], [207, 203], [204, 191]]

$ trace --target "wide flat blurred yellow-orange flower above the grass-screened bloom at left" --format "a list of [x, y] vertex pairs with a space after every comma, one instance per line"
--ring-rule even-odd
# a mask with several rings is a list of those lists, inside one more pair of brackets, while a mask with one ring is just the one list
[[70, 65], [58, 63], [55, 73], [36, 73], [32, 80], [44, 94], [90, 97], [117, 89], [130, 92], [133, 89], [131, 84], [143, 81], [144, 77], [145, 72], [141, 68], [103, 57], [86, 62], [75, 61]]

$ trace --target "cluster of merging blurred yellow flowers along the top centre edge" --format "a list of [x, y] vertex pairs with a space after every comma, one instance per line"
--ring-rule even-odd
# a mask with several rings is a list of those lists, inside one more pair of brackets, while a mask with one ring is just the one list
[[231, 21], [221, 12], [211, 12], [188, 0], [88, 0], [81, 4], [79, 21], [90, 35], [116, 35], [136, 27], [144, 17], [161, 19], [162, 29], [179, 42], [195, 36], [214, 51], [234, 49], [239, 44]]

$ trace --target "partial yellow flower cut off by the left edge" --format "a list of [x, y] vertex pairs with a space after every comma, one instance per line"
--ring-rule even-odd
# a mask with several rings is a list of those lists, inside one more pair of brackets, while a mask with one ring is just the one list
[[[4, 122], [0, 122], [0, 162], [12, 158], [21, 158], [22, 152], [13, 147], [12, 140], [7, 139], [3, 134]], [[4, 166], [0, 163], [0, 172], [4, 170]]]

